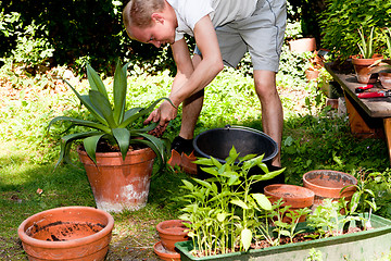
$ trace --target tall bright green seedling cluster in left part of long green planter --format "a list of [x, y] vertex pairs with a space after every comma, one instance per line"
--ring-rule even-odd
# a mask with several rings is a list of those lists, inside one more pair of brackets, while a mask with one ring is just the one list
[[[184, 181], [184, 189], [188, 194], [182, 196], [187, 204], [181, 209], [181, 220], [190, 221], [189, 236], [200, 251], [206, 254], [228, 249], [230, 246], [240, 246], [247, 251], [253, 240], [256, 227], [264, 224], [255, 222], [264, 215], [265, 210], [272, 210], [272, 204], [265, 195], [251, 192], [253, 184], [268, 181], [279, 175], [282, 170], [268, 172], [263, 156], [249, 154], [239, 158], [235, 147], [229, 152], [226, 163], [216, 159], [201, 158], [195, 161], [201, 170], [212, 175], [211, 178], [195, 182]], [[248, 175], [249, 170], [258, 166], [264, 174]], [[264, 228], [264, 231], [267, 229]]]

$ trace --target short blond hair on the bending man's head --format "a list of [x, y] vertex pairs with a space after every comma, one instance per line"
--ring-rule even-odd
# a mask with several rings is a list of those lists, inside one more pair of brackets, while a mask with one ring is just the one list
[[164, 0], [130, 0], [124, 8], [123, 20], [127, 32], [130, 26], [140, 28], [152, 24], [152, 14], [164, 10]]

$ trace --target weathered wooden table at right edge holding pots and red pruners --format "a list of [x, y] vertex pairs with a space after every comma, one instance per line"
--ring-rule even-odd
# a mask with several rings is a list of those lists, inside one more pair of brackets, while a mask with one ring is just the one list
[[[391, 98], [360, 99], [355, 88], [366, 85], [357, 82], [353, 67], [343, 72], [332, 63], [325, 64], [325, 67], [343, 89], [352, 133], [363, 138], [384, 138], [391, 162]], [[367, 91], [377, 90], [382, 90], [379, 83]]]

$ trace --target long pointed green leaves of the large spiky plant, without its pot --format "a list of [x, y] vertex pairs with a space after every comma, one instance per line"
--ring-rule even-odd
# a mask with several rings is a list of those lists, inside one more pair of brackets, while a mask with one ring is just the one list
[[93, 162], [96, 162], [96, 151], [100, 140], [116, 145], [124, 160], [129, 146], [133, 144], [143, 145], [153, 149], [157, 156], [159, 163], [161, 163], [160, 165], [166, 160], [167, 153], [164, 140], [148, 134], [156, 127], [157, 123], [151, 123], [143, 128], [136, 128], [134, 126], [136, 126], [137, 120], [149, 114], [160, 101], [163, 99], [169, 101], [169, 99], [160, 98], [148, 108], [126, 110], [127, 67], [128, 64], [123, 66], [121, 62], [117, 62], [113, 80], [113, 104], [110, 102], [108, 90], [102, 79], [89, 64], [87, 64], [87, 77], [91, 89], [88, 95], [80, 95], [65, 80], [96, 121], [68, 116], [56, 116], [50, 121], [48, 129], [56, 122], [71, 122], [70, 128], [74, 126], [90, 128], [90, 130], [68, 134], [61, 138], [60, 159], [55, 166], [62, 161], [70, 162], [71, 145], [79, 139], [83, 139], [84, 148]]

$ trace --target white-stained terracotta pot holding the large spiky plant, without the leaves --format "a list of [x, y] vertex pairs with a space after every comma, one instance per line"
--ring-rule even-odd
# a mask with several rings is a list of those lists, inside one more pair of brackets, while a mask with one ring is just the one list
[[121, 152], [97, 152], [97, 165], [78, 148], [98, 209], [121, 212], [146, 207], [155, 153], [151, 148]]

